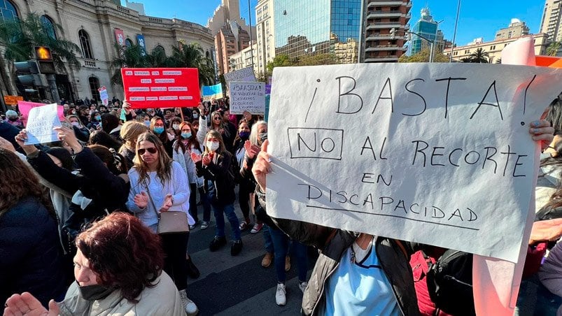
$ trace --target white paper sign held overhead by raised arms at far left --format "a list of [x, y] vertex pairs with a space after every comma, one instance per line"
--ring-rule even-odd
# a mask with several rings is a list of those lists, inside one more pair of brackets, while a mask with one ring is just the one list
[[25, 145], [50, 143], [58, 141], [57, 132], [53, 127], [59, 127], [60, 120], [57, 115], [57, 103], [38, 106], [29, 110], [27, 119], [27, 140]]

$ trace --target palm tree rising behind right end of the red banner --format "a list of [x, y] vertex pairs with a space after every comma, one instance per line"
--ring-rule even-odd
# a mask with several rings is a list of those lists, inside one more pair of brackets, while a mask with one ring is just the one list
[[213, 60], [205, 57], [199, 43], [178, 43], [178, 47], [172, 47], [169, 59], [172, 67], [197, 68], [199, 70], [199, 85], [214, 85], [215, 70]]

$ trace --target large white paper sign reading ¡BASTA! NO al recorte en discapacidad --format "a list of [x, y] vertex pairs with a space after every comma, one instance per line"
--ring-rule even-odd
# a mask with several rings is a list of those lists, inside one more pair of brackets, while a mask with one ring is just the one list
[[556, 69], [280, 67], [268, 213], [517, 261]]

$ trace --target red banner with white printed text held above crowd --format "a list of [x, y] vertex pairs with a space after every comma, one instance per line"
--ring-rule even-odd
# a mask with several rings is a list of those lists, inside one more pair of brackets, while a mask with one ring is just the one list
[[132, 108], [195, 108], [201, 99], [196, 68], [122, 68]]

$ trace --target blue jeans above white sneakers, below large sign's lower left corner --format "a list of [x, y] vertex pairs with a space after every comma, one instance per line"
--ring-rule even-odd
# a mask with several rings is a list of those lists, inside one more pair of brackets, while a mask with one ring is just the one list
[[[269, 229], [269, 234], [272, 235], [274, 253], [275, 253], [275, 273], [277, 275], [277, 282], [285, 283], [285, 257], [288, 254], [289, 238], [283, 234], [279, 229]], [[297, 268], [299, 270], [299, 281], [304, 282], [307, 280], [307, 246], [293, 240], [293, 250], [297, 257]]]

